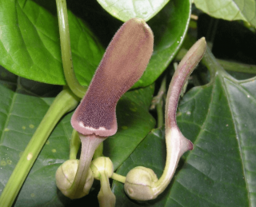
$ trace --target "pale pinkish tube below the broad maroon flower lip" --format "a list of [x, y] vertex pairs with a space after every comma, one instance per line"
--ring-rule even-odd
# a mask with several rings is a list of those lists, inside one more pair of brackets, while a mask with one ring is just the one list
[[90, 163], [94, 155], [95, 149], [106, 137], [99, 137], [97, 135], [82, 135], [78, 133], [82, 143], [81, 156], [78, 165], [78, 171], [74, 177], [74, 182], [70, 189], [67, 189], [70, 198], [80, 198], [84, 196], [83, 188], [86, 184], [86, 176]]

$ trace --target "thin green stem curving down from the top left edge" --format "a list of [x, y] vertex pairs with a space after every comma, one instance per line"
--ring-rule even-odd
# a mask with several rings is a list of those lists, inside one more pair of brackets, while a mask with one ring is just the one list
[[67, 85], [70, 87], [70, 90], [72, 90], [72, 92], [76, 96], [78, 96], [79, 98], [83, 98], [86, 94], [87, 89], [80, 85], [74, 74], [70, 47], [70, 30], [66, 10], [66, 0], [56, 0], [56, 4], [58, 11], [59, 34], [61, 38], [63, 70], [66, 82]]

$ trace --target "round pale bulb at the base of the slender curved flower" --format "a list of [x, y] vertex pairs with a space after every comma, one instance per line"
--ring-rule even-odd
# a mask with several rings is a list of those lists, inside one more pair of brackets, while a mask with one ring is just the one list
[[137, 201], [147, 201], [156, 198], [154, 193], [154, 183], [158, 177], [152, 169], [138, 166], [131, 169], [126, 176], [126, 194]]

